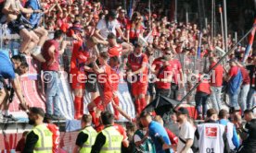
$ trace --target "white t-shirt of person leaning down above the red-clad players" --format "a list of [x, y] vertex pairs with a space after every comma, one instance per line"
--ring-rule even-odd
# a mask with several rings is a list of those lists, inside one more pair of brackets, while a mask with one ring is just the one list
[[110, 32], [114, 33], [116, 35], [116, 29], [120, 28], [120, 23], [117, 19], [114, 19], [112, 21], [109, 21], [108, 24], [106, 22], [106, 19], [100, 19], [96, 25], [96, 29], [99, 30], [99, 34], [107, 40], [107, 37]]

